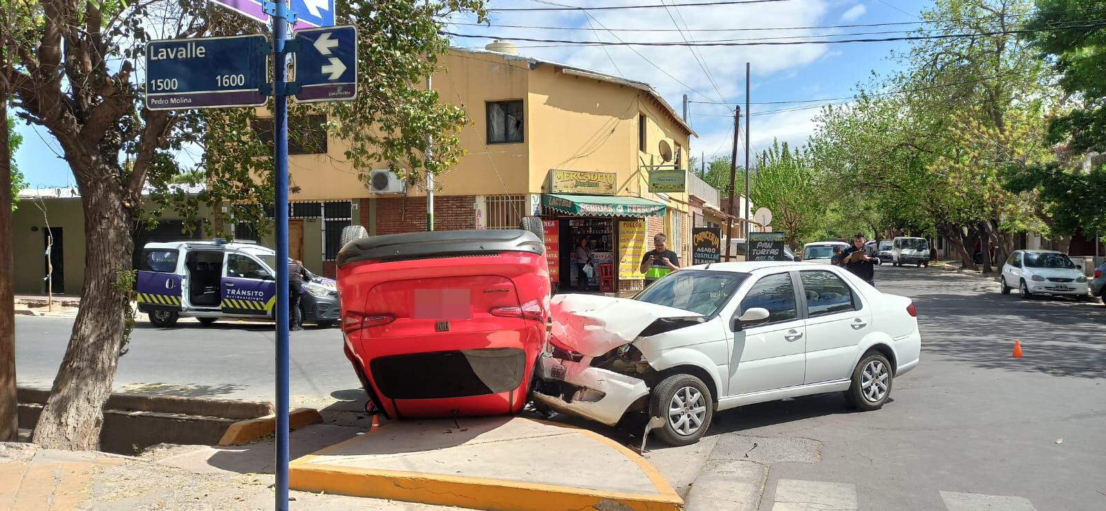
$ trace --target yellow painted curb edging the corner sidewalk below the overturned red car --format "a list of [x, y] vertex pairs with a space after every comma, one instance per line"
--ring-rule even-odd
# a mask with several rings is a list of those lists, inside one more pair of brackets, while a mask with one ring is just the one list
[[[530, 419], [528, 419], [530, 420]], [[538, 420], [543, 424], [553, 424]], [[294, 490], [337, 493], [352, 497], [456, 505], [472, 509], [510, 509], [522, 511], [613, 509], [622, 504], [640, 511], [676, 511], [684, 501], [660, 472], [645, 458], [625, 446], [586, 429], [576, 429], [626, 456], [649, 478], [656, 493], [626, 493], [591, 488], [471, 478], [444, 473], [404, 472], [363, 469], [331, 465], [312, 465], [319, 456], [341, 446], [361, 440], [353, 438], [299, 458], [289, 466], [289, 486]], [[366, 434], [367, 435], [367, 434]]]

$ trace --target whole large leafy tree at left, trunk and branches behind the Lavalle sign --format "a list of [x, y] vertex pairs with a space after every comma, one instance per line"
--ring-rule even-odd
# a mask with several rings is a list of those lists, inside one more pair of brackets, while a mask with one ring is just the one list
[[[0, 1], [0, 46], [8, 55], [0, 63], [0, 97], [10, 94], [19, 117], [58, 140], [85, 221], [82, 306], [33, 440], [94, 449], [133, 324], [133, 222], [168, 207], [194, 217], [205, 204], [229, 206], [238, 221], [258, 221], [272, 200], [271, 152], [252, 124], [258, 111], [145, 108], [136, 74], [145, 43], [260, 33], [264, 27], [204, 0]], [[345, 156], [358, 170], [383, 161], [407, 169], [413, 181], [440, 171], [459, 157], [456, 134], [467, 119], [420, 84], [447, 48], [445, 20], [457, 11], [482, 18], [482, 9], [480, 0], [338, 1], [337, 22], [359, 28], [363, 90], [356, 102], [294, 106], [292, 115], [327, 114], [326, 129], [351, 140]], [[168, 185], [189, 170], [179, 155], [196, 146], [206, 148], [207, 189], [198, 196], [174, 191]], [[147, 186], [153, 192], [144, 199]]]

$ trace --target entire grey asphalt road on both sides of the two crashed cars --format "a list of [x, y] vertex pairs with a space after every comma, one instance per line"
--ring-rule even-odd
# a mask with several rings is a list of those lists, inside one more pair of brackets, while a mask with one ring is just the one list
[[[876, 279], [916, 300], [922, 327], [922, 363], [895, 382], [894, 400], [849, 413], [825, 395], [716, 415], [698, 446], [648, 453], [688, 508], [1106, 509], [1106, 306], [1022, 301], [932, 269], [881, 267]], [[50, 385], [70, 322], [17, 320], [21, 384]], [[1015, 338], [1024, 358], [1010, 357]], [[268, 327], [139, 322], [131, 346], [118, 389], [272, 396]], [[356, 399], [356, 387], [337, 330], [293, 334], [301, 403]]]

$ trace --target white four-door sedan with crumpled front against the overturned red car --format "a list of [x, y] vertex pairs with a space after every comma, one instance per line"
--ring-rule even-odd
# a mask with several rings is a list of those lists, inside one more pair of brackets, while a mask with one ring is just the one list
[[844, 392], [877, 409], [921, 351], [910, 299], [817, 263], [690, 267], [633, 300], [554, 296], [551, 316], [535, 404], [612, 426], [645, 411], [671, 445], [753, 403]]

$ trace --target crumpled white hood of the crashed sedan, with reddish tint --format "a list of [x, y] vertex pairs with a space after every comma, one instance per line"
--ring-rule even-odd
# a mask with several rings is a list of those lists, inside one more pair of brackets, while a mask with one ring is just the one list
[[657, 320], [702, 314], [655, 303], [595, 294], [559, 294], [550, 302], [552, 336], [584, 356], [599, 356], [634, 342]]

